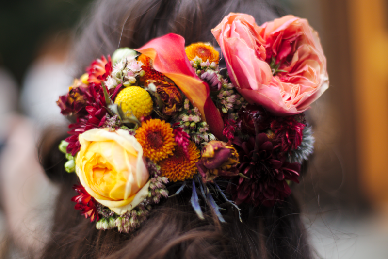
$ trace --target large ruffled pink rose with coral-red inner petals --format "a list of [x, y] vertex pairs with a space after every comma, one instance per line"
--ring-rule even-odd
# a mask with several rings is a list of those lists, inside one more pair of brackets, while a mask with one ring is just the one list
[[211, 32], [240, 94], [275, 115], [306, 111], [329, 86], [318, 33], [306, 19], [258, 26], [252, 16], [230, 13]]

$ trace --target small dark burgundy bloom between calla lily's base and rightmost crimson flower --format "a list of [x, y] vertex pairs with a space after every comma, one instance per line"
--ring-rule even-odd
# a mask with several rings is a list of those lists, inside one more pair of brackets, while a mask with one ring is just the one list
[[261, 106], [248, 104], [239, 111], [238, 115], [237, 126], [242, 133], [256, 135], [259, 131], [270, 127], [271, 115]]

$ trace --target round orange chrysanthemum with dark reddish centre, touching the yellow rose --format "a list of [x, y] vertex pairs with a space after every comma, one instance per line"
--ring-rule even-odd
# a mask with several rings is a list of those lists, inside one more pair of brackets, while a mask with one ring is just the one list
[[142, 145], [144, 155], [154, 162], [172, 155], [177, 145], [170, 124], [160, 119], [143, 121], [135, 137]]

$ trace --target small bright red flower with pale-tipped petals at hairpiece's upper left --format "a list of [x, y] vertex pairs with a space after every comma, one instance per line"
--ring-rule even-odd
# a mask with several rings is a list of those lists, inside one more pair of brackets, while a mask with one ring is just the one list
[[108, 60], [101, 56], [101, 59], [93, 61], [86, 71], [89, 74], [88, 82], [90, 84], [101, 85], [101, 81], [105, 81], [112, 72], [111, 56], [108, 55]]

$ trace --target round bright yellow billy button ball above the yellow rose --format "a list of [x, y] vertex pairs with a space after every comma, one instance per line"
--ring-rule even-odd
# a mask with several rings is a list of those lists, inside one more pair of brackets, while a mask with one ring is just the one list
[[151, 96], [139, 86], [129, 86], [121, 90], [114, 103], [120, 105], [124, 113], [133, 113], [138, 120], [142, 116], [148, 116], [153, 110]]

